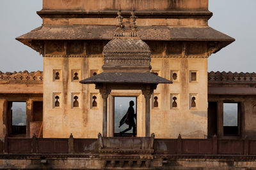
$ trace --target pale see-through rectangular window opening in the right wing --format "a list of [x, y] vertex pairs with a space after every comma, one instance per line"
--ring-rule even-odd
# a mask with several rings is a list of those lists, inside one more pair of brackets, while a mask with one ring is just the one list
[[223, 103], [223, 134], [239, 135], [239, 103]]

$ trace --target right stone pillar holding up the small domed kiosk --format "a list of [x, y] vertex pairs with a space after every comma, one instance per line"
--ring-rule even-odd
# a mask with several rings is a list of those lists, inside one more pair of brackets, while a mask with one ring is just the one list
[[142, 90], [142, 93], [143, 95], [145, 96], [145, 131], [146, 131], [146, 134], [145, 136], [146, 137], [150, 137], [150, 97], [152, 95], [152, 92], [153, 92], [153, 88], [150, 87], [150, 85], [146, 85], [145, 87], [143, 87]]

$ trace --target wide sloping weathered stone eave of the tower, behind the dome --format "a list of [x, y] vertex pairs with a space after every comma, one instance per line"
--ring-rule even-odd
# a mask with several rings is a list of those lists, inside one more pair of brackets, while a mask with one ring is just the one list
[[[115, 25], [43, 25], [16, 38], [24, 43], [28, 40], [72, 40], [112, 39]], [[140, 26], [138, 34], [142, 40], [156, 41], [235, 41], [211, 27]], [[225, 44], [226, 44], [225, 43]]]

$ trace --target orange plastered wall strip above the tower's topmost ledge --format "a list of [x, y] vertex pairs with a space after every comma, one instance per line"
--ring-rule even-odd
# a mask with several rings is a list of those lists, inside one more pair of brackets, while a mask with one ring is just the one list
[[44, 0], [43, 10], [208, 10], [208, 0]]

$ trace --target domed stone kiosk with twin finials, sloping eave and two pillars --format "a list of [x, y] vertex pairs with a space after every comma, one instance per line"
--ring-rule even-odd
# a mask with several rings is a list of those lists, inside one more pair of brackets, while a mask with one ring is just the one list
[[[159, 83], [172, 83], [155, 73], [150, 73], [150, 48], [137, 35], [136, 16], [132, 9], [129, 28], [122, 23], [121, 10], [115, 36], [104, 46], [103, 73], [81, 80], [80, 83], [94, 83], [103, 99], [103, 137], [108, 136], [108, 96], [111, 90], [141, 90], [145, 96], [145, 136], [150, 136], [150, 97]], [[109, 117], [109, 124], [113, 118]], [[159, 122], [161, 124], [161, 122]], [[109, 126], [111, 128], [111, 126]], [[113, 129], [109, 130], [113, 136]]]

